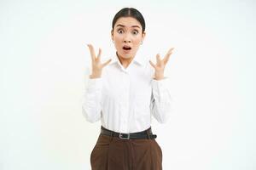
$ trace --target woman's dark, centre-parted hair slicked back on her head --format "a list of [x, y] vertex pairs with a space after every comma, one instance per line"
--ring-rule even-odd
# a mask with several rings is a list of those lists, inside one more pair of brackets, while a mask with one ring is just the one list
[[116, 21], [120, 17], [132, 17], [135, 18], [137, 21], [140, 22], [140, 24], [143, 26], [143, 32], [145, 31], [145, 20], [143, 18], [143, 14], [141, 14], [136, 8], [122, 8], [119, 10], [117, 14], [114, 15], [113, 21], [112, 21], [112, 29], [113, 26], [115, 25]]

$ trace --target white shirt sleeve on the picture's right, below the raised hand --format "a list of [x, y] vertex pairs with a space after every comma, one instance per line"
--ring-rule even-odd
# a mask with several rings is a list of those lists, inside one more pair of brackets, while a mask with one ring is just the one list
[[152, 80], [150, 111], [160, 123], [168, 122], [171, 113], [174, 111], [174, 99], [172, 98], [168, 84], [168, 77], [162, 80]]

